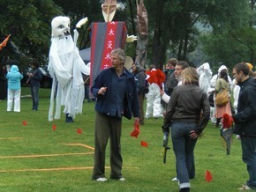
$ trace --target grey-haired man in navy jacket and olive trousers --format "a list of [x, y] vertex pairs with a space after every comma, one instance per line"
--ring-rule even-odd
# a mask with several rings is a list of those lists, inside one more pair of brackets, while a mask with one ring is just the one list
[[102, 70], [91, 88], [95, 104], [94, 171], [92, 179], [105, 177], [106, 146], [110, 138], [110, 179], [124, 181], [121, 155], [122, 117], [134, 117], [139, 123], [139, 101], [134, 77], [124, 68], [125, 54], [121, 48], [111, 51], [112, 67]]

